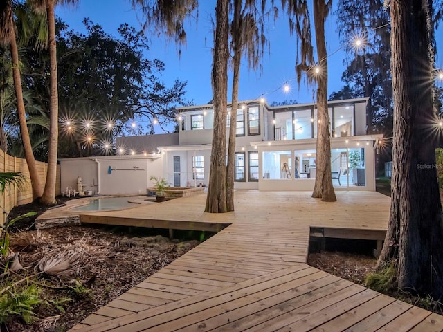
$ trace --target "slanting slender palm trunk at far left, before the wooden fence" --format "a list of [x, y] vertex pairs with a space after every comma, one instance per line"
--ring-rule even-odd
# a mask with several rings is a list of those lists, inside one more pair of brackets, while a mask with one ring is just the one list
[[15, 23], [12, 15], [12, 0], [3, 1], [0, 5], [0, 43], [9, 44], [12, 58], [12, 76], [15, 86], [15, 95], [17, 99], [17, 113], [19, 116], [21, 140], [23, 142], [26, 163], [28, 164], [30, 181], [33, 187], [33, 199], [42, 196], [42, 187], [39, 181], [37, 165], [33, 154], [33, 148], [30, 143], [28, 126], [26, 124], [26, 113], [23, 101], [23, 91], [21, 89], [21, 74], [19, 64], [19, 52], [17, 40], [15, 37]]

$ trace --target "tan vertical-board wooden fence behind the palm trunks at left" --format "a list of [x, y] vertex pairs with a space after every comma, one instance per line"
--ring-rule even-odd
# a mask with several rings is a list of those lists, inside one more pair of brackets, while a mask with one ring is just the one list
[[[48, 165], [37, 161], [37, 169], [42, 189], [46, 181], [46, 170]], [[25, 159], [9, 156], [0, 150], [0, 172], [19, 172], [24, 176], [24, 183], [13, 185], [6, 188], [3, 194], [0, 194], [0, 207], [3, 209], [3, 217], [0, 218], [0, 224], [3, 225], [7, 214], [16, 205], [28, 204], [33, 201], [33, 190], [30, 183], [28, 164]], [[55, 184], [55, 194], [60, 195], [60, 166], [57, 167], [57, 182]]]

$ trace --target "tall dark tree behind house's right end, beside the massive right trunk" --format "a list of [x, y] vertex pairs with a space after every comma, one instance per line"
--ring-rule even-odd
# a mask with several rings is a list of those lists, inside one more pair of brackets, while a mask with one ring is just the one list
[[338, 1], [337, 30], [347, 53], [342, 80], [351, 98], [368, 97], [368, 133], [392, 136], [390, 25], [384, 1]]

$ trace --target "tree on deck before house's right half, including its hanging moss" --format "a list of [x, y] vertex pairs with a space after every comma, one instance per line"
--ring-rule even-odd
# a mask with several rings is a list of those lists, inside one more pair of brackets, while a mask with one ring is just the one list
[[[312, 197], [322, 201], [336, 201], [331, 173], [331, 122], [327, 111], [327, 51], [325, 44], [325, 19], [332, 6], [332, 0], [313, 0], [314, 27], [318, 63], [314, 64], [314, 48], [311, 39], [311, 23], [307, 1], [282, 0], [287, 6], [289, 15], [295, 16], [295, 21], [289, 20], [291, 33], [296, 30], [300, 38], [300, 51], [297, 54], [297, 77], [300, 84], [302, 73], [307, 73], [308, 83], [316, 80], [317, 86], [317, 142], [316, 142], [316, 182]], [[299, 60], [299, 57], [301, 59]]]

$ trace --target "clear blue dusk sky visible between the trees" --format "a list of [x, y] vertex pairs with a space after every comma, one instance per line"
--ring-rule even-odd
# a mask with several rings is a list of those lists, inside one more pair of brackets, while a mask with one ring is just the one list
[[[166, 84], [172, 85], [177, 78], [188, 82], [186, 98], [193, 100], [197, 105], [209, 102], [213, 94], [210, 84], [213, 47], [210, 16], [215, 15], [216, 1], [199, 2], [203, 4], [200, 6], [199, 19], [197, 25], [195, 21], [192, 22], [192, 26], [188, 25], [188, 42], [182, 49], [180, 59], [174, 42], [166, 42], [162, 36], [147, 35], [151, 44], [150, 50], [146, 53], [149, 59], [161, 59], [165, 62], [162, 79]], [[89, 17], [94, 24], [100, 24], [106, 33], [114, 36], [118, 35], [117, 28], [120, 24], [127, 23], [140, 29], [143, 19], [141, 13], [132, 10], [129, 2], [124, 0], [80, 0], [75, 8], [58, 6], [56, 15], [70, 28], [82, 33], [85, 31], [82, 20]], [[343, 86], [341, 75], [345, 68], [343, 66], [345, 54], [341, 51], [335, 20], [335, 15], [332, 13], [325, 25], [329, 54], [328, 95]], [[443, 44], [441, 36], [441, 33], [437, 34], [437, 44], [440, 46]], [[264, 54], [262, 72], [249, 71], [245, 62], [242, 65], [239, 100], [251, 100], [264, 95], [269, 104], [291, 99], [299, 103], [314, 102], [314, 89], [307, 88], [304, 82], [298, 86], [296, 81], [296, 37], [289, 35], [287, 17], [280, 18], [269, 26], [269, 37], [271, 50]], [[289, 82], [291, 86], [289, 93], [282, 90], [285, 82]], [[230, 86], [228, 91], [228, 100], [230, 100]]]

